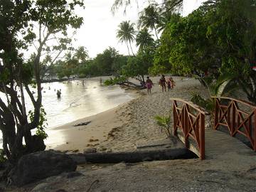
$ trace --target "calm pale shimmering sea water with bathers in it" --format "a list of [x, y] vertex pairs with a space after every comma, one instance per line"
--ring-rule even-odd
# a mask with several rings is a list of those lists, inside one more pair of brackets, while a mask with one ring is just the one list
[[[118, 85], [104, 86], [98, 79], [86, 79], [84, 83], [82, 80], [50, 82], [43, 83], [42, 87], [47, 129], [110, 110], [132, 100], [132, 95]], [[61, 90], [60, 98], [57, 97], [57, 90]], [[25, 95], [25, 101], [27, 109], [32, 109], [28, 95]]]

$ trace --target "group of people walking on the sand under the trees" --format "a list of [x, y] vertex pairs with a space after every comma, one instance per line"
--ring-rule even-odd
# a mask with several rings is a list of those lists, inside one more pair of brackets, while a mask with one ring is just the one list
[[[147, 92], [148, 94], [151, 93], [151, 88], [153, 86], [153, 82], [151, 81], [151, 79], [149, 77], [146, 77], [146, 88], [147, 88]], [[164, 75], [161, 75], [161, 78], [159, 80], [159, 86], [161, 86], [161, 90], [162, 92], [166, 92], [166, 85], [168, 87], [168, 91], [172, 90], [174, 88], [175, 82], [173, 78], [168, 78], [168, 80], [166, 80]]]

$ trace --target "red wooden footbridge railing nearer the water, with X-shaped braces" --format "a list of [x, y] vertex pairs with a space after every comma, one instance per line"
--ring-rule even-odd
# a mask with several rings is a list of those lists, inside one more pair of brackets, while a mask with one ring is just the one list
[[[181, 129], [188, 148], [188, 139], [193, 139], [199, 149], [200, 159], [205, 159], [205, 112], [192, 102], [171, 98], [174, 102], [174, 135]], [[178, 103], [181, 106], [178, 106]]]

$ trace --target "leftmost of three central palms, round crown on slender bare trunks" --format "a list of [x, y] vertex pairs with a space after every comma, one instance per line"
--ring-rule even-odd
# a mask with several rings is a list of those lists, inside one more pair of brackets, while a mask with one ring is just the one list
[[[119, 29], [117, 30], [117, 38], [119, 41], [127, 43], [128, 53], [129, 53], [129, 46], [132, 50], [131, 43], [135, 40], [135, 30], [134, 30], [135, 23], [130, 23], [130, 21], [122, 21], [119, 24]], [[129, 46], [128, 46], [129, 42]], [[133, 51], [132, 54], [134, 55]]]

